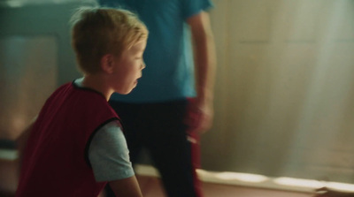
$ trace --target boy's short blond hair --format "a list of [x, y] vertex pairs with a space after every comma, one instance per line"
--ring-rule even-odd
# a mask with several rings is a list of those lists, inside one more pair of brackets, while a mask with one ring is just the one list
[[119, 56], [136, 42], [146, 39], [148, 30], [131, 11], [81, 7], [72, 19], [72, 46], [83, 73], [101, 71], [106, 54]]

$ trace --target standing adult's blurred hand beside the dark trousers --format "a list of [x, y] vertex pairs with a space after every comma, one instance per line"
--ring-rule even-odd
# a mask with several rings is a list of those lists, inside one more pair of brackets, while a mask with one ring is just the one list
[[189, 133], [204, 133], [212, 126], [213, 108], [212, 102], [191, 99], [186, 123], [189, 125]]

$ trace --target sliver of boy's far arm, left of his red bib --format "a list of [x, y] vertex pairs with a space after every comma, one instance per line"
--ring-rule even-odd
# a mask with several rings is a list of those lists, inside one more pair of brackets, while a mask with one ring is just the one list
[[19, 137], [15, 140], [16, 146], [17, 146], [17, 151], [18, 151], [19, 170], [21, 169], [21, 166], [22, 166], [23, 152], [27, 146], [27, 140], [28, 140], [28, 137], [32, 131], [32, 128], [33, 128], [33, 125], [35, 124], [36, 119], [37, 119], [37, 116], [35, 116], [33, 118], [31, 123], [25, 129], [25, 131], [23, 131], [21, 134], [19, 134]]

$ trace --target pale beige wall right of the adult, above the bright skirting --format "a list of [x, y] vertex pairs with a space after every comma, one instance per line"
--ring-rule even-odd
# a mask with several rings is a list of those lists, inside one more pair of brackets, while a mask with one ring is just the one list
[[215, 0], [206, 170], [354, 182], [354, 1]]

